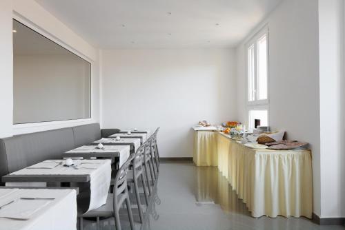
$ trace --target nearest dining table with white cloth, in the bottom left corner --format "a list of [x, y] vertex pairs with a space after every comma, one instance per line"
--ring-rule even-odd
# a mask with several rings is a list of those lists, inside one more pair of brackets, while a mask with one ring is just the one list
[[0, 188], [0, 230], [77, 229], [75, 189]]

